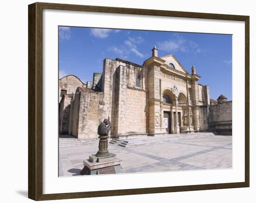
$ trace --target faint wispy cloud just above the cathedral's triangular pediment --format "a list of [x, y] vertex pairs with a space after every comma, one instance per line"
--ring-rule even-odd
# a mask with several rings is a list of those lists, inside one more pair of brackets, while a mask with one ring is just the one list
[[196, 42], [186, 40], [178, 34], [174, 34], [173, 38], [171, 39], [157, 43], [157, 47], [159, 50], [170, 52], [170, 53], [177, 52], [177, 51], [182, 51], [184, 53], [187, 53], [187, 52], [201, 53], [204, 51], [201, 48], [199, 48]]

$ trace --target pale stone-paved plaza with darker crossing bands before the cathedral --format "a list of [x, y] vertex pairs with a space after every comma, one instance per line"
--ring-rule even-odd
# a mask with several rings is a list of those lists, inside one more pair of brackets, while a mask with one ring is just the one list
[[[121, 173], [232, 167], [232, 136], [169, 136], [175, 136], [175, 139], [128, 147], [108, 144], [108, 150], [122, 160]], [[69, 135], [61, 135], [59, 142], [60, 176], [80, 175], [83, 159], [98, 151], [98, 140], [82, 142]]]

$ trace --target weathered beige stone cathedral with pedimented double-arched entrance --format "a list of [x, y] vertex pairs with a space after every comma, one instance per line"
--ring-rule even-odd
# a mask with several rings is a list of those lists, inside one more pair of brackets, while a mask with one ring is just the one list
[[99, 123], [109, 118], [111, 138], [167, 133], [232, 133], [232, 101], [210, 99], [173, 55], [152, 57], [142, 65], [105, 58], [102, 73], [86, 84], [73, 75], [59, 80], [59, 131], [78, 139], [96, 139]]

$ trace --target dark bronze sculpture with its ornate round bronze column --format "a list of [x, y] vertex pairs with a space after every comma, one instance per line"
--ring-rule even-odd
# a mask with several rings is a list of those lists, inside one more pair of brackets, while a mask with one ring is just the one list
[[104, 119], [104, 121], [101, 122], [100, 125], [98, 126], [98, 135], [100, 135], [99, 136], [100, 141], [99, 141], [99, 151], [95, 154], [95, 156], [102, 157], [102, 156], [109, 155], [108, 133], [110, 129], [111, 129], [111, 123], [108, 116], [108, 119]]

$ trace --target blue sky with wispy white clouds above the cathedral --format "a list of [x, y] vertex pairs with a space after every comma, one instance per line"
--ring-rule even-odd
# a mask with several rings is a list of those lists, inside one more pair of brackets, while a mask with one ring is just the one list
[[222, 94], [232, 100], [231, 35], [59, 27], [60, 77], [92, 81], [94, 72], [102, 72], [104, 58], [142, 64], [154, 45], [159, 57], [173, 54], [189, 73], [194, 65], [212, 99]]

